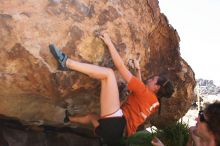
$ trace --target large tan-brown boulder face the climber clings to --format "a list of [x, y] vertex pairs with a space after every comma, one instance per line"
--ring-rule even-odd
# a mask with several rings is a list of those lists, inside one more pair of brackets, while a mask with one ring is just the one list
[[[195, 97], [194, 73], [181, 58], [178, 33], [157, 0], [1, 1], [0, 113], [49, 124], [62, 123], [65, 108], [99, 113], [99, 81], [57, 70], [48, 45], [115, 70], [106, 46], [95, 37], [101, 30], [109, 33], [125, 64], [140, 53], [144, 80], [156, 74], [173, 80], [175, 93], [162, 100], [152, 123], [163, 127], [182, 117]], [[124, 81], [115, 74], [123, 96]]]

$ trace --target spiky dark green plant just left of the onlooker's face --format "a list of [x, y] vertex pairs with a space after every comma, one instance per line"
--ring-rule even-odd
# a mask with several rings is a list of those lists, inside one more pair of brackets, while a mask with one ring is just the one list
[[186, 146], [189, 137], [188, 129], [187, 124], [178, 122], [174, 126], [158, 130], [157, 137], [165, 146]]

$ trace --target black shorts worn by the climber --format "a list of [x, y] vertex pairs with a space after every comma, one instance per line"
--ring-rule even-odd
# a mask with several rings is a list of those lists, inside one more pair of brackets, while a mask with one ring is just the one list
[[103, 138], [106, 144], [117, 146], [123, 136], [125, 125], [124, 116], [99, 119], [95, 134]]

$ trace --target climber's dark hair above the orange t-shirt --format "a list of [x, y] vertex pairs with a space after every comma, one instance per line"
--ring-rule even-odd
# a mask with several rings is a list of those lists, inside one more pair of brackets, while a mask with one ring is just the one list
[[156, 93], [158, 98], [165, 97], [170, 98], [174, 92], [173, 83], [166, 78], [164, 75], [159, 75], [157, 80], [157, 85], [160, 86], [160, 89]]

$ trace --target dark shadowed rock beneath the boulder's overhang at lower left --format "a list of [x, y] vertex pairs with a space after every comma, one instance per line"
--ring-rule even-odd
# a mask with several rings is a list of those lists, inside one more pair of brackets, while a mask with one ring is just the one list
[[101, 146], [101, 140], [85, 127], [24, 125], [0, 115], [1, 146]]

